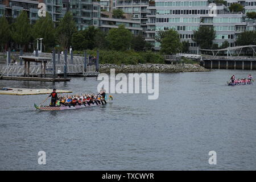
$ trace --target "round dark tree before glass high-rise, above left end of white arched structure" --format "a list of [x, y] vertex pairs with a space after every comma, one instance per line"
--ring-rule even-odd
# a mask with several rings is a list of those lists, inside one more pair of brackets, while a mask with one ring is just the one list
[[200, 26], [198, 30], [193, 31], [193, 41], [203, 49], [210, 49], [216, 36], [216, 31], [212, 27]]

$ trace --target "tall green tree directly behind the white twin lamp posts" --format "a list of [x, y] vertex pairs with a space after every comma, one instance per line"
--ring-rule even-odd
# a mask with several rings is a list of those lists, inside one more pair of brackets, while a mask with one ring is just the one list
[[43, 38], [43, 44], [47, 48], [55, 46], [55, 28], [51, 16], [46, 13], [46, 16], [40, 17], [36, 20], [32, 28], [32, 35], [34, 40]]

